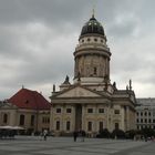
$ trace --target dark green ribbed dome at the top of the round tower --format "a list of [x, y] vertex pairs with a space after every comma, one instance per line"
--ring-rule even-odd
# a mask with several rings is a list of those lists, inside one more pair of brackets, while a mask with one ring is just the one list
[[96, 33], [104, 37], [104, 29], [94, 16], [92, 16], [92, 18], [83, 25], [81, 37], [90, 33]]

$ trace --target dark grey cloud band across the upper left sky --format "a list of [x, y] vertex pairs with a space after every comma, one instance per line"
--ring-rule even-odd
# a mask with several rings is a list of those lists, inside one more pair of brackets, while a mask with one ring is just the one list
[[[91, 3], [79, 0], [1, 0], [0, 20], [3, 23], [19, 22], [76, 22]], [[71, 20], [71, 21], [70, 21]]]

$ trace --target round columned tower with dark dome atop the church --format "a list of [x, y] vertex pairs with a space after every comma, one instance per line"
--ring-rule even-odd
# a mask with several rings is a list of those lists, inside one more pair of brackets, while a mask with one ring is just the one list
[[102, 24], [92, 18], [83, 25], [74, 52], [74, 83], [96, 85], [110, 83], [111, 52]]

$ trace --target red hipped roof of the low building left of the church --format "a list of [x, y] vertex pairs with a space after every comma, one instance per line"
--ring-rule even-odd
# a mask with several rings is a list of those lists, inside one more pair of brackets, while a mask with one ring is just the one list
[[42, 94], [27, 89], [21, 89], [8, 101], [20, 108], [50, 110], [51, 107], [50, 102]]

